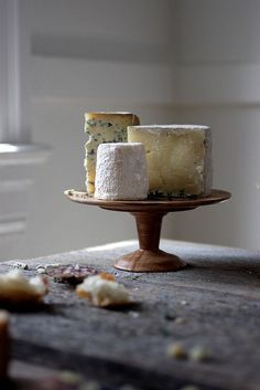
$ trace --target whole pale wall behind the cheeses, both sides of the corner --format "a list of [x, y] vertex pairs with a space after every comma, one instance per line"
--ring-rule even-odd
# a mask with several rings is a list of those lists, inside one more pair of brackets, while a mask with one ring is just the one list
[[71, 203], [84, 187], [84, 112], [128, 109], [143, 124], [214, 131], [214, 186], [225, 204], [170, 214], [166, 238], [259, 247], [260, 2], [23, 0], [31, 7], [35, 171], [19, 256], [136, 236], [132, 217]]

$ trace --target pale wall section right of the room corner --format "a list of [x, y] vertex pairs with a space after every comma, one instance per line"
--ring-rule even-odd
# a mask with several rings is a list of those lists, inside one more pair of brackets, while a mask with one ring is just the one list
[[214, 131], [225, 204], [177, 215], [176, 238], [259, 249], [260, 2], [178, 0], [176, 120]]

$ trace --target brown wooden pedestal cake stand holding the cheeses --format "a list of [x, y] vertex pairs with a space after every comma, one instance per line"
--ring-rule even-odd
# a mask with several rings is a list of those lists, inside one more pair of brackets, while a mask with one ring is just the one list
[[86, 192], [66, 190], [66, 197], [78, 203], [98, 205], [101, 209], [128, 211], [137, 222], [140, 249], [117, 261], [116, 268], [132, 272], [167, 272], [183, 268], [186, 263], [175, 254], [159, 249], [163, 217], [172, 211], [193, 210], [201, 205], [223, 202], [230, 198], [230, 193], [223, 190], [213, 190], [212, 194], [198, 199], [173, 200], [98, 200], [90, 198]]

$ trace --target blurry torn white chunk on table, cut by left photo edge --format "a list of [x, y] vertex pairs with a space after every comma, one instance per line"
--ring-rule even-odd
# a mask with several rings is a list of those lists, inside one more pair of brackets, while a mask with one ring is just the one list
[[40, 275], [28, 280], [21, 270], [0, 274], [0, 302], [20, 304], [40, 302], [47, 293], [46, 281]]

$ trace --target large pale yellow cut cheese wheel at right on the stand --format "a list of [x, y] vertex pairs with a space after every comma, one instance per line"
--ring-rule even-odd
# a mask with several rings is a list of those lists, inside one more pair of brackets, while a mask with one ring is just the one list
[[212, 192], [212, 131], [197, 125], [128, 127], [128, 141], [143, 143], [149, 192], [207, 197]]

